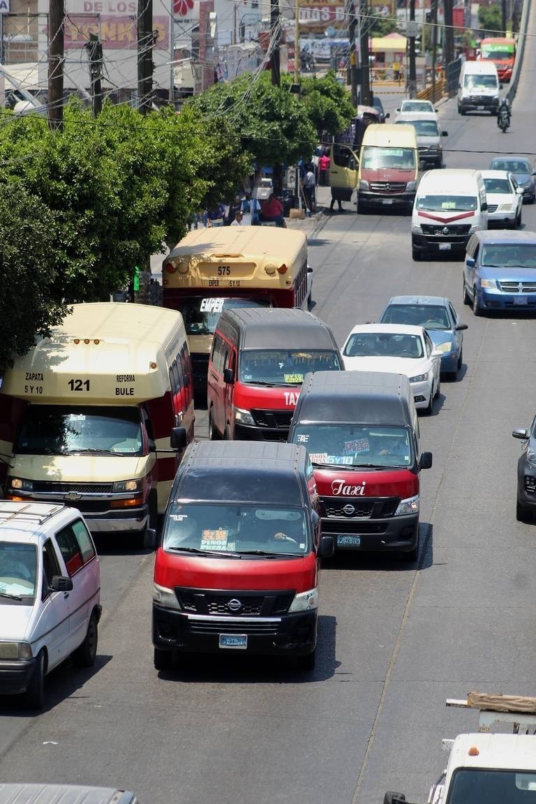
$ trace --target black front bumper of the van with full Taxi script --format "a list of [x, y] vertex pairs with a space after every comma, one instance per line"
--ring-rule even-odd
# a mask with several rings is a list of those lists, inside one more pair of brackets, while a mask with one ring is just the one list
[[[391, 519], [346, 519], [322, 517], [322, 534], [335, 536], [337, 550], [359, 552], [409, 552], [419, 541], [419, 514]], [[339, 536], [358, 536], [358, 545], [339, 544]]]

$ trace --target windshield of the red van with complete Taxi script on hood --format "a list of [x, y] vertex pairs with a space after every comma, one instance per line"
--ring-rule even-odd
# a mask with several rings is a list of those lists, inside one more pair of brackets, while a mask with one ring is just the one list
[[297, 425], [292, 440], [305, 446], [313, 466], [411, 466], [413, 462], [403, 427]]

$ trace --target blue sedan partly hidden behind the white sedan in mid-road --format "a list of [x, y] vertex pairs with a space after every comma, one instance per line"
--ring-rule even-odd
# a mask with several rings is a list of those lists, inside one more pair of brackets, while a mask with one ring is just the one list
[[441, 353], [441, 372], [456, 379], [463, 363], [463, 330], [452, 301], [443, 296], [393, 296], [387, 301], [378, 322], [423, 326]]

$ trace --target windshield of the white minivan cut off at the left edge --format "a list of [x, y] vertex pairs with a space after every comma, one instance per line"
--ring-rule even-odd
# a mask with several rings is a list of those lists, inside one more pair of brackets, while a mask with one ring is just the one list
[[[36, 583], [35, 544], [0, 541], [0, 605], [13, 601], [31, 603]], [[18, 654], [9, 658], [18, 658]]]

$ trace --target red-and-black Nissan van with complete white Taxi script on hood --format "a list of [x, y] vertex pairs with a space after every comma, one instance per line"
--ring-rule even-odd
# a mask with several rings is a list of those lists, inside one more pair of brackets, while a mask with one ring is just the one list
[[419, 553], [419, 420], [405, 375], [319, 371], [305, 378], [288, 441], [304, 445], [322, 532], [339, 550]]

